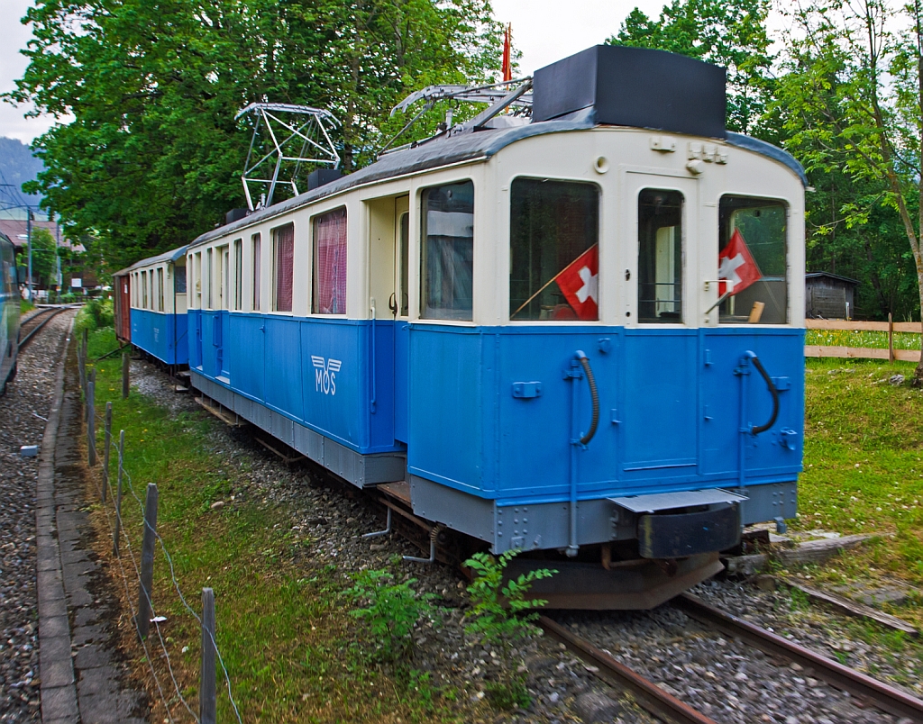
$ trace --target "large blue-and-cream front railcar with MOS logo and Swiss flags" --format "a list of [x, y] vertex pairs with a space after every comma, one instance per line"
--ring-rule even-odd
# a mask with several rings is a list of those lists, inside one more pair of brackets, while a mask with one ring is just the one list
[[[805, 177], [725, 133], [722, 69], [649, 53], [549, 66], [531, 122], [200, 236], [193, 385], [494, 552], [574, 558], [550, 605], [712, 576], [741, 526], [796, 512]], [[570, 599], [588, 567], [609, 577]]]

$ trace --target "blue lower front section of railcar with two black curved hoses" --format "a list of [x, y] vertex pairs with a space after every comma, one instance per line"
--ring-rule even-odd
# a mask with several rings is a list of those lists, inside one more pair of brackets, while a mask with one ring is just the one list
[[[504, 537], [557, 547], [571, 528], [578, 541], [617, 540], [608, 499], [626, 495], [746, 490], [744, 522], [795, 514], [803, 330], [414, 326], [410, 342], [408, 472], [420, 516], [464, 516], [452, 525], [506, 550]], [[593, 416], [578, 350], [598, 390], [588, 445], [575, 444]], [[779, 390], [776, 420], [759, 435], [741, 430], [769, 420], [773, 397], [750, 351]], [[520, 518], [515, 535], [503, 533], [504, 511]]]

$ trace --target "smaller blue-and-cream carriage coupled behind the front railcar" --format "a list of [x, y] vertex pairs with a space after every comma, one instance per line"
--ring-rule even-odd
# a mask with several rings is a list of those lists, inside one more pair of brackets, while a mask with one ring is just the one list
[[126, 338], [127, 299], [130, 335], [126, 341], [164, 364], [188, 364], [186, 246], [142, 259], [114, 277], [119, 337]]

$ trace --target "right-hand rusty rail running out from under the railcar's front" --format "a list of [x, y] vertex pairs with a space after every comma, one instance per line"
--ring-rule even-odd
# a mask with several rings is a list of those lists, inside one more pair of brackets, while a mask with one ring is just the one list
[[883, 711], [923, 722], [923, 700], [912, 694], [906, 694], [838, 661], [827, 659], [816, 651], [794, 644], [731, 613], [716, 609], [690, 593], [678, 596], [673, 599], [673, 603], [696, 621], [705, 623], [725, 635], [739, 638], [767, 654], [781, 656], [805, 668], [809, 667], [818, 678], [837, 689], [865, 697]]

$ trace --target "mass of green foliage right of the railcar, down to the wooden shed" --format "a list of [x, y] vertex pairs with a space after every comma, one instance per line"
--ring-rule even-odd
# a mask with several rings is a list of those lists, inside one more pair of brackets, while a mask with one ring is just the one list
[[809, 264], [862, 279], [859, 304], [879, 318], [919, 318], [923, 300], [919, 13], [880, 0], [797, 6], [777, 88], [786, 148], [818, 189]]

